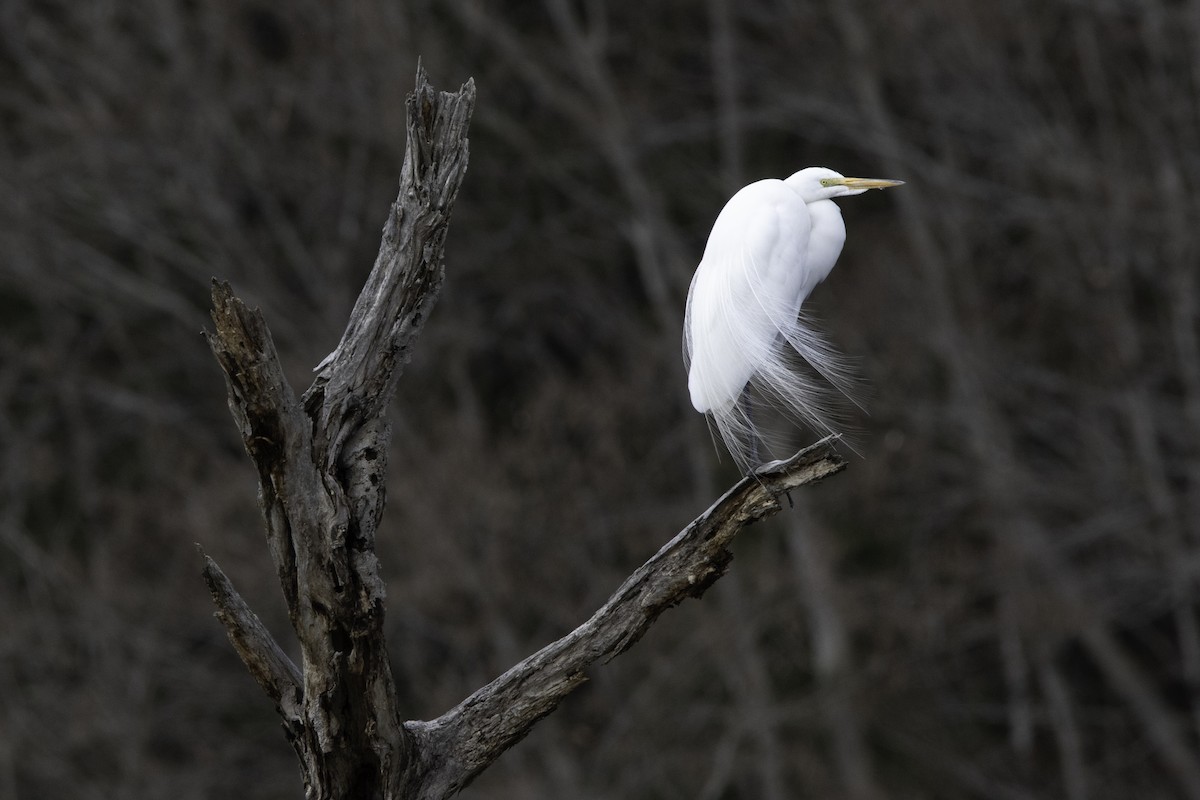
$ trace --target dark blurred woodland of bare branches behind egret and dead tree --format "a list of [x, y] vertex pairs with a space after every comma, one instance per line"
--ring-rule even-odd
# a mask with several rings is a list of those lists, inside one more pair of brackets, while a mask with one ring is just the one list
[[464, 798], [1200, 798], [1196, 42], [1196, 0], [5, 0], [0, 796], [301, 795], [199, 578], [290, 640], [200, 330], [232, 281], [308, 385], [420, 58], [479, 103], [379, 542], [412, 718], [737, 477], [679, 356], [725, 199], [908, 182], [812, 300], [860, 457]]

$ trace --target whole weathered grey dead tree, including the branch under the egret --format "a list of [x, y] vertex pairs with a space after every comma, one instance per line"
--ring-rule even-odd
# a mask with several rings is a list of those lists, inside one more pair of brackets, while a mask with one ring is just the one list
[[437, 720], [403, 721], [384, 643], [374, 539], [384, 507], [388, 403], [444, 275], [443, 243], [467, 169], [475, 100], [418, 71], [400, 196], [341, 343], [300, 398], [262, 314], [214, 281], [209, 343], [259, 476], [266, 541], [302, 662], [293, 663], [212, 559], [204, 577], [229, 639], [275, 702], [310, 800], [454, 795], [665, 609], [698, 597], [748, 524], [779, 498], [844, 467], [827, 439], [725, 493], [575, 631]]

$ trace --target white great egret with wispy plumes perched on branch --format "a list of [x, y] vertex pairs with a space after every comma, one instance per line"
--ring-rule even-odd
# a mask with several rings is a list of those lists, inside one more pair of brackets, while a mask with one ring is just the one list
[[833, 198], [902, 182], [808, 167], [742, 188], [713, 223], [688, 290], [684, 362], [691, 404], [712, 417], [746, 474], [758, 465], [760, 445], [769, 447], [743, 398], [748, 384], [785, 414], [829, 433], [828, 392], [797, 369], [797, 359], [852, 397], [851, 371], [805, 323], [800, 305], [846, 241]]

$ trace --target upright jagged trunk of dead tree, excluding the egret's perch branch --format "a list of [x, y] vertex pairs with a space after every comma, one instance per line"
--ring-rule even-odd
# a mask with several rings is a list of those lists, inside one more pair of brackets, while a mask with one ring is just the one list
[[228, 284], [212, 285], [209, 342], [258, 468], [268, 546], [302, 672], [211, 561], [205, 577], [230, 639], [283, 716], [312, 799], [406, 798], [419, 786], [414, 740], [396, 709], [374, 554], [388, 452], [384, 409], [442, 284], [474, 98], [470, 82], [457, 94], [436, 92], [418, 73], [400, 194], [379, 255], [341, 343], [302, 401], [283, 377], [262, 315]]

